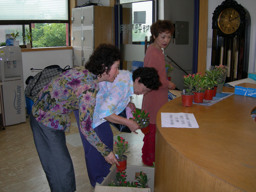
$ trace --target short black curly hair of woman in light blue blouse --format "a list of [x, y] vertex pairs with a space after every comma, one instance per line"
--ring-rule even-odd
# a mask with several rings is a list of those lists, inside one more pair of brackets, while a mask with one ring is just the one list
[[140, 77], [138, 82], [151, 90], [158, 90], [162, 84], [154, 67], [139, 67], [132, 73], [132, 80], [135, 81], [138, 77]]

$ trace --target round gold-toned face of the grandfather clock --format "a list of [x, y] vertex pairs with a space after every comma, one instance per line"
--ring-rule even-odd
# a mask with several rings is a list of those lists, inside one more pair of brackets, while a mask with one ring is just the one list
[[240, 25], [240, 15], [233, 8], [223, 10], [218, 17], [218, 26], [224, 34], [234, 33]]

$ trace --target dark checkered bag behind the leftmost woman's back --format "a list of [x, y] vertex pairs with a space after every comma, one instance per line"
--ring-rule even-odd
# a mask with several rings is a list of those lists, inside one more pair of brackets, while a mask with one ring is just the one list
[[[68, 69], [66, 69], [67, 67]], [[66, 66], [64, 69], [62, 69], [58, 65], [50, 65], [44, 68], [35, 76], [29, 76], [25, 82], [27, 85], [25, 88], [25, 95], [34, 101], [36, 95], [44, 86], [46, 86], [57, 75], [69, 69], [69, 66]], [[30, 70], [33, 70], [33, 68]]]

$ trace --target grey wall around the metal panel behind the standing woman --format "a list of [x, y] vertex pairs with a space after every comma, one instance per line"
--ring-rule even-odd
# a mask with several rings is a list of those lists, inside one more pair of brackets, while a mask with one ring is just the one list
[[[164, 19], [171, 20], [173, 23], [176, 21], [186, 21], [189, 23], [189, 34], [188, 34], [188, 44], [177, 45], [170, 42], [167, 48], [164, 50], [164, 55], [168, 55], [174, 60], [181, 68], [183, 68], [187, 73], [192, 73], [193, 64], [193, 34], [194, 34], [194, 1], [192, 0], [164, 0], [160, 1], [161, 7], [164, 7]], [[162, 15], [162, 11], [160, 10]], [[186, 13], [186, 14], [184, 14]], [[161, 18], [163, 19], [163, 18]], [[167, 61], [170, 61], [165, 57]], [[183, 76], [186, 75], [179, 68], [175, 68], [171, 73], [172, 82], [175, 83], [179, 90], [184, 89]]]

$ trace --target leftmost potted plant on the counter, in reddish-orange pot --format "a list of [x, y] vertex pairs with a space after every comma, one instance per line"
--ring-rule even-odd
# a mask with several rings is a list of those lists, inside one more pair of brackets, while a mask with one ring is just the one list
[[191, 106], [193, 103], [193, 99], [194, 99], [194, 87], [196, 86], [196, 84], [198, 84], [199, 79], [198, 78], [194, 78], [195, 74], [188, 74], [187, 76], [184, 75], [183, 76], [183, 82], [184, 82], [184, 86], [186, 86], [187, 88], [185, 90], [183, 90], [183, 93], [181, 94], [181, 99], [182, 99], [182, 105], [183, 106]]

